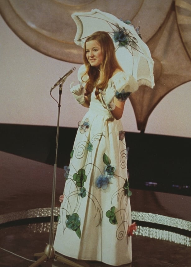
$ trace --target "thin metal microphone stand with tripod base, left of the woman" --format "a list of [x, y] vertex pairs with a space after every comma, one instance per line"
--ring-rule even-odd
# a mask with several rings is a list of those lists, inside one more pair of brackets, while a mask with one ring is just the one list
[[[72, 267], [83, 267], [71, 260], [64, 258], [61, 255], [57, 255], [54, 251], [53, 243], [54, 243], [54, 204], [55, 204], [55, 190], [56, 190], [56, 168], [57, 168], [57, 155], [58, 155], [58, 135], [59, 135], [59, 120], [60, 120], [60, 107], [61, 107], [61, 95], [62, 95], [62, 87], [65, 82], [66, 77], [64, 77], [62, 83], [59, 84], [59, 101], [58, 103], [58, 121], [57, 121], [57, 134], [56, 134], [56, 156], [55, 156], [55, 164], [54, 164], [54, 176], [53, 176], [53, 188], [52, 188], [52, 202], [51, 202], [51, 215], [50, 215], [50, 232], [49, 232], [49, 243], [44, 249], [42, 253], [35, 253], [34, 257], [40, 257], [37, 261], [35, 261], [29, 267], [39, 266], [43, 262], [47, 262], [48, 260], [58, 260], [60, 262], [66, 263]], [[51, 88], [52, 89], [52, 88]], [[51, 90], [52, 91], [52, 90]], [[50, 92], [51, 92], [50, 91]]]

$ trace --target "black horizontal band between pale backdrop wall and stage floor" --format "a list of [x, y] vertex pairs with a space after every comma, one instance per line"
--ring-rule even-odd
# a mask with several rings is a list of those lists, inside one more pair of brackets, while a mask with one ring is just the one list
[[[54, 165], [53, 126], [0, 124], [0, 151]], [[69, 165], [76, 128], [59, 128], [57, 167]], [[125, 133], [130, 188], [191, 195], [191, 138]], [[27, 166], [26, 166], [27, 168]]]

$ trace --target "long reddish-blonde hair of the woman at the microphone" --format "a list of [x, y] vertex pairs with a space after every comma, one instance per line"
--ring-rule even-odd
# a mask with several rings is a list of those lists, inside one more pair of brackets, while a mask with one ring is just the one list
[[[86, 43], [92, 40], [96, 40], [101, 46], [103, 61], [99, 68], [92, 67], [86, 58]], [[116, 59], [114, 43], [109, 34], [105, 31], [96, 31], [86, 39], [83, 50], [83, 59], [86, 66], [86, 72], [82, 76], [82, 80], [86, 74], [89, 77], [86, 81], [87, 95], [93, 91], [94, 87], [96, 87], [95, 94], [96, 97], [99, 97], [99, 89], [103, 90], [106, 87], [114, 71], [116, 69], [123, 70]]]

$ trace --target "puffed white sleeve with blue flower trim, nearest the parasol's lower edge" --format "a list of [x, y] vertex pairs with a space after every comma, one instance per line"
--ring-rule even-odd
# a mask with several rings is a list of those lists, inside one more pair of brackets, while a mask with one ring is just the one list
[[138, 83], [131, 74], [119, 72], [112, 78], [116, 89], [115, 97], [119, 101], [125, 101], [131, 93], [138, 90]]

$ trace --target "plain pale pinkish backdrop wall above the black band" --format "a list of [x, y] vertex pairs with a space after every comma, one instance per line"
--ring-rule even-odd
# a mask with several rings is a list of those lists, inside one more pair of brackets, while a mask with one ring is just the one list
[[[77, 83], [80, 64], [53, 59], [32, 49], [19, 39], [0, 16], [0, 123], [57, 124], [58, 105], [50, 88], [72, 67], [63, 84], [60, 126], [77, 127], [87, 111], [71, 95], [70, 83]], [[151, 113], [145, 133], [191, 137], [191, 82], [172, 90]], [[155, 89], [153, 89], [155, 90]], [[58, 87], [52, 92], [58, 99]], [[132, 105], [128, 100], [123, 115], [124, 130], [139, 132]]]

